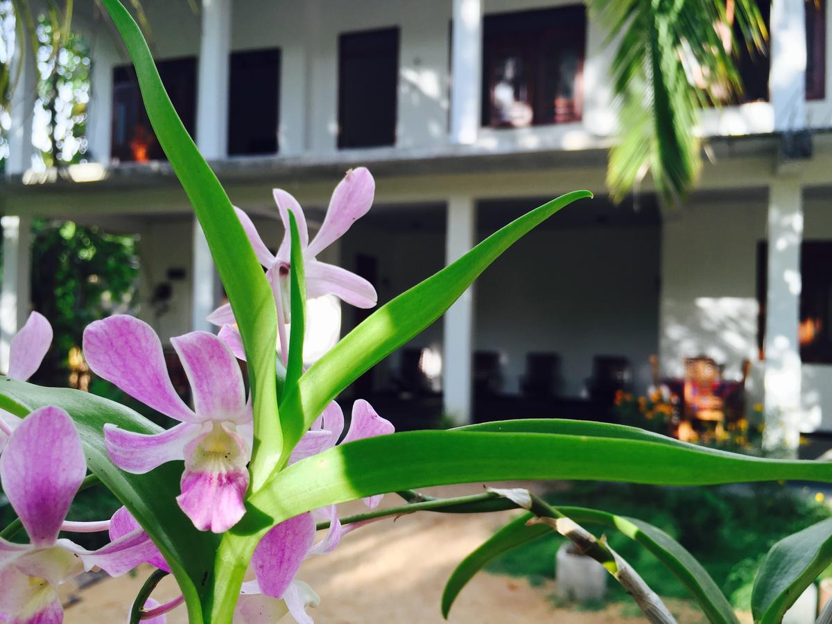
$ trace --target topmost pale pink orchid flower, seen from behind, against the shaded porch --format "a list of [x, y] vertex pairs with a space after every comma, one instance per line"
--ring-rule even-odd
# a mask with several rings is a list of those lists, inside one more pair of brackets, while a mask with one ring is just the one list
[[[339, 266], [329, 265], [317, 260], [317, 255], [335, 240], [343, 236], [354, 221], [364, 216], [373, 204], [375, 181], [365, 167], [347, 171], [344, 179], [332, 193], [329, 208], [324, 216], [324, 223], [318, 234], [310, 242], [309, 229], [306, 225], [304, 211], [295, 197], [282, 189], [275, 189], [275, 202], [280, 211], [285, 234], [277, 254], [273, 255], [266, 247], [248, 215], [235, 208], [245, 234], [254, 247], [257, 260], [267, 269], [271, 288], [275, 294], [278, 314], [278, 334], [280, 335], [280, 352], [286, 353], [285, 324], [290, 322], [290, 288], [289, 270], [291, 265], [291, 236], [289, 232], [289, 210], [295, 213], [300, 233], [300, 245], [303, 247], [306, 296], [309, 299], [321, 295], [335, 295], [346, 303], [359, 308], [372, 308], [378, 301], [375, 289], [369, 281]], [[230, 304], [221, 305], [208, 317], [216, 325], [235, 324]], [[232, 329], [236, 331], [235, 329]]]

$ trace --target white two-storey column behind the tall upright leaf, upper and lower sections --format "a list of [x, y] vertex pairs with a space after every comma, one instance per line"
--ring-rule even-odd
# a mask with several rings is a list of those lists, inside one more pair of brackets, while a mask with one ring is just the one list
[[[228, 154], [228, 64], [231, 0], [202, 0], [196, 145], [207, 160]], [[215, 308], [217, 276], [208, 241], [194, 216], [191, 259], [191, 326], [210, 331], [206, 316]]]

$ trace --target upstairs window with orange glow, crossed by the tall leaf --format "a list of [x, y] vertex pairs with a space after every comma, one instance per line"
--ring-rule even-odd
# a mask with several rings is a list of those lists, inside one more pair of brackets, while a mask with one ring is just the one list
[[[156, 67], [182, 123], [188, 133], [195, 136], [196, 57], [157, 61]], [[144, 162], [165, 158], [147, 119], [132, 66], [113, 68], [111, 154], [120, 161]]]

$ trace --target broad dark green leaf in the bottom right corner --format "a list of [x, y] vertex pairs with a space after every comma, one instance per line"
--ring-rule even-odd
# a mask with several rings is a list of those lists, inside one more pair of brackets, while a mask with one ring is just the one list
[[795, 600], [832, 564], [832, 518], [784, 537], [771, 547], [757, 572], [751, 612], [760, 624], [783, 619]]

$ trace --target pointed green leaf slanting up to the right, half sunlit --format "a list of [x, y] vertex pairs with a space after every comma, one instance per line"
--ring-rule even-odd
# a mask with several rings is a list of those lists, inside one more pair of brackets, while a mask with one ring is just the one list
[[513, 220], [453, 264], [381, 306], [344, 336], [285, 394], [281, 409], [302, 414], [302, 418], [292, 418], [297, 424], [285, 425], [282, 461], [285, 463], [300, 436], [342, 390], [438, 319], [488, 265], [529, 230], [587, 197], [592, 193], [567, 193]]

